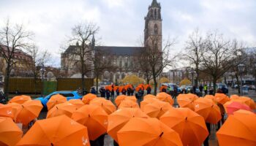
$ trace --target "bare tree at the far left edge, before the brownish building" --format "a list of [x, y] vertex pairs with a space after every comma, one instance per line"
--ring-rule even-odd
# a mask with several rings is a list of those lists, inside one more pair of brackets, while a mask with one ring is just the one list
[[4, 93], [8, 96], [11, 67], [16, 63], [15, 53], [30, 45], [32, 33], [26, 31], [23, 25], [10, 25], [9, 20], [0, 28], [0, 56], [4, 58], [7, 68], [5, 69]]

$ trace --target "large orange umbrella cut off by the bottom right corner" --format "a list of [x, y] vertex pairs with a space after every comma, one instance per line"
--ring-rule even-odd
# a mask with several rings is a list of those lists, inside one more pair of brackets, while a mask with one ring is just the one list
[[256, 145], [256, 115], [238, 110], [217, 131], [219, 145]]

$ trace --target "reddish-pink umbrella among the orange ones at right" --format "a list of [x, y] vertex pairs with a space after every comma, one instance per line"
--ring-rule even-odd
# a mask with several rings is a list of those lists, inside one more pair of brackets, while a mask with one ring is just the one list
[[233, 112], [236, 112], [237, 110], [252, 111], [246, 104], [241, 104], [240, 102], [236, 101], [227, 101], [224, 104], [224, 107], [227, 112], [227, 115], [233, 115]]

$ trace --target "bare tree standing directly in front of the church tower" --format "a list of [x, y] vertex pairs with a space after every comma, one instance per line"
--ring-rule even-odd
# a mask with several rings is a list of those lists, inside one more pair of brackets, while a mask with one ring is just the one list
[[171, 66], [174, 58], [170, 56], [170, 47], [173, 46], [173, 42], [170, 42], [168, 39], [165, 45], [162, 47], [159, 45], [158, 36], [151, 36], [148, 39], [148, 43], [140, 53], [140, 58], [143, 58], [143, 61], [147, 62], [148, 64], [148, 73], [152, 74], [152, 78], [154, 80], [154, 94], [157, 94], [157, 77], [162, 73], [162, 70], [166, 66]]

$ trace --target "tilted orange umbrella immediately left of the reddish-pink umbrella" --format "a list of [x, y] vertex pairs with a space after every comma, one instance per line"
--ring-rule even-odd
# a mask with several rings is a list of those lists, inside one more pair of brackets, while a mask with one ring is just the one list
[[219, 107], [211, 99], [199, 98], [194, 101], [194, 104], [195, 112], [202, 115], [207, 123], [217, 124], [222, 119]]

